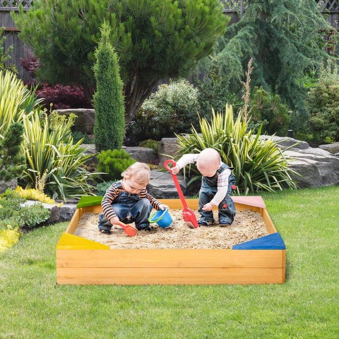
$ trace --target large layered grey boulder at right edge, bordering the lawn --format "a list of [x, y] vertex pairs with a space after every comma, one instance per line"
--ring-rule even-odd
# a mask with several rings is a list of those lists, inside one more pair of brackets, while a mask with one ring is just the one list
[[301, 176], [292, 175], [299, 188], [339, 184], [339, 158], [320, 148], [285, 151], [290, 168]]

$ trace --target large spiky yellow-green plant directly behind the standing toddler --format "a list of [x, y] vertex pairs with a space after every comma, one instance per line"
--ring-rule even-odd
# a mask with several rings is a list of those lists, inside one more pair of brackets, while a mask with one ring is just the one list
[[[272, 139], [259, 139], [257, 134], [248, 129], [241, 114], [233, 120], [233, 109], [226, 106], [225, 114], [214, 113], [211, 123], [200, 120], [201, 136], [192, 127], [188, 136], [178, 136], [181, 154], [199, 153], [205, 148], [216, 149], [224, 163], [234, 167], [238, 192], [254, 193], [258, 190], [273, 191], [284, 186], [296, 188], [290, 177], [283, 152]], [[193, 168], [193, 171], [197, 172]]]

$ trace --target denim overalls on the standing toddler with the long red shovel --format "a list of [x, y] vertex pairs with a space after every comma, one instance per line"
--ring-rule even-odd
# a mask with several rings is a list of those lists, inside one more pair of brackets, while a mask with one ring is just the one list
[[[214, 222], [213, 212], [212, 211], [203, 211], [202, 207], [209, 203], [214, 196], [216, 195], [217, 186], [218, 186], [218, 174], [223, 172], [226, 169], [234, 170], [232, 167], [222, 164], [221, 167], [216, 171], [216, 174], [213, 177], [202, 177], [201, 179], [201, 188], [199, 192], [199, 210], [201, 214], [199, 221], [211, 221]], [[219, 223], [230, 224], [234, 220], [235, 216], [235, 206], [234, 202], [231, 199], [232, 185], [235, 185], [235, 177], [231, 173], [229, 176], [229, 187], [225, 198], [219, 203]]]

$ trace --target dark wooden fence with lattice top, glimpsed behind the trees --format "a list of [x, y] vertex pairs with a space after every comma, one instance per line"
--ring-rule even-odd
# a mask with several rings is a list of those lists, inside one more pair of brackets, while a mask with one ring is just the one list
[[[219, 0], [223, 4], [223, 12], [231, 17], [231, 22], [238, 22], [244, 15], [247, 9], [247, 0]], [[8, 63], [15, 64], [19, 71], [19, 77], [24, 81], [31, 80], [31, 76], [20, 66], [20, 59], [25, 59], [30, 53], [30, 48], [25, 45], [19, 38], [19, 30], [15, 27], [15, 24], [11, 18], [10, 11], [17, 11], [18, 4], [22, 3], [24, 10], [29, 10], [32, 4], [32, 0], [0, 0], [0, 26], [5, 27], [6, 41], [4, 48], [13, 46], [14, 49], [11, 52], [11, 59]], [[334, 29], [339, 29], [339, 0], [321, 0], [318, 1], [318, 5], [321, 6], [322, 12], [327, 14], [327, 20]]]

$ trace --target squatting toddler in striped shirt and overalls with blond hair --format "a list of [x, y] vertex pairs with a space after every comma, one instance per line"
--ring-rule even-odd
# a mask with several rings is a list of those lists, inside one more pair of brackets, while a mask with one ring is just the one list
[[168, 208], [156, 200], [146, 190], [150, 182], [148, 165], [136, 162], [121, 173], [123, 177], [108, 187], [101, 202], [103, 212], [99, 215], [99, 231], [110, 234], [112, 225], [120, 221], [125, 224], [135, 222], [138, 230], [150, 228], [148, 218], [153, 208]]

